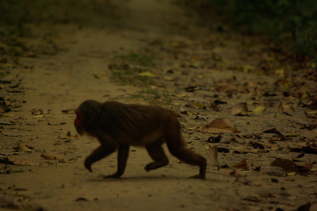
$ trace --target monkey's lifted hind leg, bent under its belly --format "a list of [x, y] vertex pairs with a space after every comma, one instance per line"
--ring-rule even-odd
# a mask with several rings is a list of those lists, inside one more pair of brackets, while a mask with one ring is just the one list
[[146, 146], [146, 149], [154, 160], [153, 163], [148, 164], [144, 169], [150, 171], [166, 166], [168, 164], [168, 158], [166, 157], [160, 141], [156, 141]]

